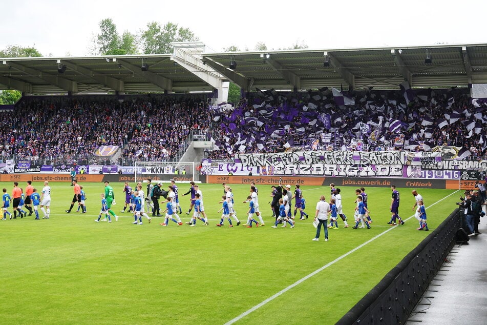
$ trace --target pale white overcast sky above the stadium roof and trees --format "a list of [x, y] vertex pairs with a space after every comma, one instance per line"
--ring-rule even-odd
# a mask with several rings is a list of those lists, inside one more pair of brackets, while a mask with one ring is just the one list
[[[39, 1], [17, 0], [0, 21], [0, 49], [33, 46], [44, 56], [90, 55], [104, 18], [121, 34], [149, 22], [189, 28], [215, 52], [487, 43], [482, 0], [444, 1]], [[8, 9], [8, 10], [7, 10]], [[212, 51], [208, 51], [212, 52]]]

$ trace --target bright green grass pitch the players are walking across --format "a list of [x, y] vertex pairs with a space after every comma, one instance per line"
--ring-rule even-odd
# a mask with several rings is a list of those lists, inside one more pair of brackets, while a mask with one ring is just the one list
[[[25, 187], [21, 184], [20, 187]], [[42, 184], [33, 184], [37, 189]], [[272, 229], [270, 187], [260, 186], [265, 227], [215, 227], [220, 221], [221, 185], [201, 185], [210, 225], [174, 222], [161, 227], [132, 225], [123, 207], [123, 184], [112, 184], [118, 222], [94, 222], [103, 184], [81, 184], [87, 193], [86, 214], [67, 214], [73, 197], [68, 184], [52, 182], [51, 218], [0, 222], [3, 277], [2, 323], [193, 323], [223, 324], [277, 294], [310, 273], [343, 256], [391, 227], [391, 190], [367, 188], [372, 229], [330, 230], [330, 241], [315, 242], [312, 219], [297, 220], [294, 229]], [[11, 193], [12, 184], [0, 183]], [[179, 185], [180, 194], [188, 190]], [[232, 186], [235, 209], [245, 220], [247, 185]], [[342, 187], [344, 212], [352, 224], [354, 188]], [[314, 216], [316, 201], [328, 187], [302, 187], [306, 211]], [[400, 215], [413, 215], [410, 189], [401, 193]], [[428, 223], [435, 229], [453, 209], [453, 190], [424, 189]], [[439, 201], [439, 202], [438, 202]], [[183, 211], [188, 196], [180, 199]], [[435, 202], [437, 204], [433, 205]], [[429, 208], [430, 205], [431, 208]], [[9, 209], [12, 211], [12, 208]], [[42, 217], [42, 215], [41, 215]], [[182, 221], [189, 220], [183, 212]], [[242, 324], [335, 323], [373, 288], [429, 233], [416, 231], [409, 218], [367, 245], [336, 260], [321, 272], [243, 316]]]

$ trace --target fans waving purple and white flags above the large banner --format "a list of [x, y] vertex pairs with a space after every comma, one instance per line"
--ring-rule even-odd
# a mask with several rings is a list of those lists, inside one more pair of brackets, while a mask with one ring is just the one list
[[[217, 149], [211, 152], [208, 157], [213, 159], [225, 159], [232, 157], [233, 154], [240, 152], [245, 153], [269, 153], [269, 152], [283, 152], [289, 147], [301, 147], [303, 149], [330, 149], [332, 150], [354, 150], [356, 147], [353, 145], [356, 140], [362, 140], [365, 144], [365, 148], [368, 150], [409, 150], [409, 151], [422, 151], [425, 150], [422, 146], [423, 143], [428, 144], [428, 147], [434, 146], [455, 146], [464, 147], [469, 149], [471, 155], [469, 159], [478, 159], [480, 157], [485, 158], [487, 156], [487, 146], [485, 141], [487, 138], [484, 136], [487, 134], [487, 107], [483, 104], [474, 105], [472, 98], [467, 94], [460, 92], [445, 92], [443, 94], [434, 94], [431, 92], [429, 96], [421, 98], [416, 97], [415, 100], [406, 104], [405, 97], [399, 92], [373, 96], [371, 94], [361, 94], [354, 97], [355, 105], [338, 107], [334, 104], [333, 96], [328, 96], [327, 99], [316, 103], [314, 108], [317, 112], [317, 116], [328, 115], [330, 118], [330, 128], [321, 128], [317, 130], [316, 127], [307, 127], [306, 132], [299, 132], [299, 121], [303, 120], [302, 110], [306, 107], [311, 96], [308, 98], [294, 97], [292, 101], [289, 101], [289, 97], [280, 97], [280, 101], [276, 100], [276, 96], [273, 96], [273, 100], [266, 100], [265, 96], [260, 98], [243, 99], [238, 106], [238, 116], [233, 115], [231, 111], [219, 112], [214, 111], [212, 117], [217, 116], [217, 121], [213, 122], [211, 129], [218, 130], [214, 132], [213, 136], [217, 142]], [[283, 99], [284, 98], [284, 99]], [[325, 97], [324, 97], [325, 98]], [[376, 98], [380, 98], [377, 100]], [[262, 103], [267, 107], [272, 107], [272, 110], [282, 110], [283, 106], [292, 105], [297, 108], [298, 114], [293, 116], [292, 120], [289, 120], [289, 125], [285, 130], [279, 133], [279, 137], [276, 137], [276, 133], [271, 134], [266, 131], [268, 124], [274, 123], [272, 118], [264, 120], [264, 124], [260, 127], [256, 127], [252, 124], [254, 134], [266, 134], [265, 139], [261, 141], [261, 145], [258, 146], [258, 141], [248, 141], [248, 143], [242, 146], [238, 143], [238, 138], [248, 135], [245, 131], [246, 124], [243, 124], [242, 128], [238, 128], [239, 133], [236, 135], [229, 134], [228, 130], [231, 123], [235, 123], [240, 126], [242, 116], [250, 118], [262, 119], [259, 109], [256, 107], [262, 106]], [[266, 109], [268, 110], [268, 108]], [[483, 116], [482, 119], [474, 118], [474, 114], [477, 113], [477, 117]], [[452, 112], [459, 114], [459, 118], [456, 121], [452, 120], [452, 123], [448, 123], [441, 128], [438, 126], [438, 121], [444, 118], [444, 114]], [[218, 117], [221, 116], [219, 119]], [[337, 118], [340, 117], [340, 118]], [[382, 116], [382, 121], [379, 123], [378, 116]], [[433, 121], [432, 124], [424, 123], [424, 120], [428, 119]], [[400, 120], [403, 122], [403, 129], [400, 131], [392, 132], [388, 126], [385, 126], [386, 121]], [[475, 120], [477, 126], [470, 132], [467, 129], [467, 121]], [[374, 121], [374, 123], [370, 123]], [[368, 131], [361, 132], [357, 127], [357, 122], [369, 124]], [[234, 127], [235, 128], [235, 127]], [[367, 129], [367, 128], [366, 128]], [[377, 131], [377, 132], [374, 132]], [[426, 131], [426, 132], [425, 132]], [[330, 143], [324, 143], [322, 134], [331, 133]], [[373, 134], [373, 137], [371, 136]], [[394, 139], [397, 136], [404, 137], [404, 145], [397, 146], [394, 144]], [[288, 140], [291, 139], [293, 145], [289, 146]], [[411, 141], [410, 141], [411, 140]], [[262, 146], [262, 143], [264, 146]], [[287, 143], [287, 146], [286, 146]], [[418, 144], [417, 146], [408, 146], [411, 144]], [[313, 148], [314, 147], [314, 148]]]

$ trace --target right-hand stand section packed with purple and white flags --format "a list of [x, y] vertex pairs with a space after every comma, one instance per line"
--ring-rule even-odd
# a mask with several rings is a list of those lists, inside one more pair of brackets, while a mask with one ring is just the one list
[[[485, 104], [453, 90], [428, 90], [425, 95], [366, 92], [348, 97], [340, 91], [297, 96], [273, 91], [241, 101], [234, 111], [213, 110], [216, 149], [209, 158], [229, 158], [237, 152], [283, 152], [290, 147], [355, 149], [363, 140], [369, 150], [429, 151], [435, 146], [463, 147], [471, 159], [487, 155]], [[336, 94], [338, 94], [336, 96]], [[342, 105], [338, 105], [342, 104]]]

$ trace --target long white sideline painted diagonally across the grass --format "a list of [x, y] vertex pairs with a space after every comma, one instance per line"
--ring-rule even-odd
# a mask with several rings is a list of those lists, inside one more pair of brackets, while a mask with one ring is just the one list
[[[443, 197], [442, 199], [440, 199], [440, 200], [438, 200], [438, 201], [434, 202], [434, 203], [433, 203], [432, 205], [430, 205], [429, 207], [434, 206], [435, 204], [437, 204], [437, 203], [441, 202], [442, 200], [444, 200], [444, 199], [446, 199], [446, 198], [448, 198], [448, 197], [452, 196], [453, 194], [455, 194], [455, 193], [456, 193], [456, 192], [458, 192], [458, 191], [460, 191], [460, 190], [456, 190], [455, 192], [453, 192], [453, 193], [451, 193], [451, 194], [449, 194], [449, 195], [447, 195], [447, 196]], [[428, 208], [429, 208], [429, 207], [428, 207]], [[428, 208], [426, 208], [426, 209], [428, 209]], [[409, 217], [407, 220], [409, 220], [409, 219], [410, 219], [410, 218], [412, 218], [412, 217], [414, 217], [414, 215], [410, 216], [410, 217]], [[262, 307], [262, 306], [264, 306], [266, 303], [268, 303], [268, 302], [270, 302], [270, 301], [272, 301], [272, 300], [276, 299], [277, 297], [279, 297], [279, 296], [280, 296], [280, 295], [282, 295], [283, 293], [286, 293], [287, 291], [291, 290], [292, 288], [294, 288], [294, 287], [298, 286], [300, 283], [302, 283], [302, 282], [306, 281], [307, 279], [309, 279], [309, 278], [310, 278], [310, 277], [312, 277], [313, 275], [315, 275], [315, 274], [317, 274], [317, 273], [320, 273], [321, 271], [325, 270], [325, 269], [326, 269], [326, 268], [328, 268], [329, 266], [332, 266], [332, 265], [333, 265], [334, 263], [336, 263], [337, 261], [340, 261], [341, 259], [343, 259], [343, 258], [347, 257], [348, 255], [352, 254], [353, 252], [355, 252], [355, 251], [357, 251], [357, 250], [361, 249], [362, 247], [364, 247], [364, 246], [365, 246], [365, 245], [367, 245], [368, 243], [372, 242], [373, 240], [375, 240], [375, 239], [379, 238], [380, 236], [382, 236], [382, 235], [384, 235], [384, 234], [388, 233], [389, 231], [391, 231], [391, 230], [393, 230], [393, 229], [395, 229], [395, 228], [397, 228], [397, 227], [391, 227], [391, 228], [389, 228], [388, 230], [383, 231], [382, 233], [380, 233], [380, 234], [376, 235], [375, 237], [372, 237], [371, 239], [367, 240], [366, 242], [362, 243], [361, 245], [359, 245], [359, 246], [355, 247], [355, 248], [354, 248], [354, 249], [352, 249], [351, 251], [348, 251], [347, 253], [343, 254], [342, 256], [335, 258], [335, 259], [334, 259], [334, 260], [332, 260], [331, 262], [327, 263], [326, 265], [322, 266], [321, 268], [317, 269], [316, 271], [311, 272], [310, 274], [308, 274], [308, 275], [306, 275], [305, 277], [303, 277], [303, 278], [299, 279], [298, 281], [296, 281], [296, 282], [292, 283], [292, 285], [290, 285], [290, 286], [288, 286], [288, 287], [284, 288], [283, 290], [279, 291], [278, 293], [276, 293], [276, 294], [274, 294], [274, 295], [270, 296], [269, 298], [265, 299], [264, 301], [262, 301], [261, 303], [257, 304], [256, 306], [254, 306], [254, 307], [250, 308], [250, 309], [249, 309], [249, 310], [247, 310], [246, 312], [243, 312], [242, 314], [238, 315], [238, 316], [237, 316], [237, 317], [235, 317], [234, 319], [231, 319], [231, 320], [227, 321], [227, 322], [225, 323], [225, 325], [228, 325], [228, 324], [233, 324], [233, 323], [235, 323], [235, 322], [239, 321], [240, 319], [244, 318], [245, 316], [247, 316], [247, 315], [248, 315], [248, 314], [250, 314], [251, 312], [256, 311], [257, 309], [261, 308], [261, 307]]]

